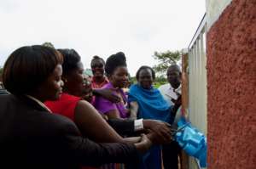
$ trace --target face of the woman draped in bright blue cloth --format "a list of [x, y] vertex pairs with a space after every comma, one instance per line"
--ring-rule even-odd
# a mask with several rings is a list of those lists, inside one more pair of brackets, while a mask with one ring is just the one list
[[150, 89], [154, 81], [152, 71], [149, 69], [140, 70], [137, 81], [141, 87]]

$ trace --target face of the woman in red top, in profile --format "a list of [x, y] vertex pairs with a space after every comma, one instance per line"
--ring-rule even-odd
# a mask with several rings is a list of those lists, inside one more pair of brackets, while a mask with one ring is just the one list
[[79, 62], [67, 76], [63, 76], [64, 87], [67, 93], [75, 96], [81, 96], [86, 85], [84, 82], [84, 65]]

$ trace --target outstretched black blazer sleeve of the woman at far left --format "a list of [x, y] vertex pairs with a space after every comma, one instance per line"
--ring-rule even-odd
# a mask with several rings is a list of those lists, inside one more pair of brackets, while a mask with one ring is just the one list
[[97, 144], [79, 136], [79, 130], [72, 123], [66, 125], [63, 145], [67, 147], [69, 159], [84, 166], [101, 166], [106, 163], [137, 164], [139, 154], [133, 144]]

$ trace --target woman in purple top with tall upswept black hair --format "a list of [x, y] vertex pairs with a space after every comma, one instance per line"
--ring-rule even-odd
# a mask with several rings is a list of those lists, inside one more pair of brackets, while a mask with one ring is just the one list
[[108, 99], [96, 97], [96, 109], [103, 115], [107, 115], [108, 119], [129, 117], [129, 110], [126, 109], [127, 98], [122, 89], [128, 82], [125, 54], [119, 52], [108, 57], [105, 72], [109, 82], [102, 88], [112, 89], [113, 93], [117, 94], [121, 101], [119, 103], [112, 103]]

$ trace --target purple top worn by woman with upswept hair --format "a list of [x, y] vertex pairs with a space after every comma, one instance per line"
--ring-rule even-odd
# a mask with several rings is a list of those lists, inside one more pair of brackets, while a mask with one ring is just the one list
[[[110, 82], [108, 82], [102, 88], [116, 89], [116, 88], [113, 87], [113, 85]], [[127, 103], [127, 98], [126, 98], [125, 93], [122, 89], [118, 88], [117, 92], [113, 91], [113, 93], [115, 93], [117, 95], [120, 94], [121, 97], [123, 98], [123, 100], [125, 101], [125, 104]], [[112, 103], [108, 99], [104, 99], [100, 96], [96, 97], [95, 103], [94, 103], [96, 110], [98, 110], [102, 114], [108, 114], [108, 111], [110, 111], [110, 110], [118, 110], [119, 115], [120, 115], [121, 118], [127, 118], [128, 113], [127, 113], [127, 109], [125, 108], [125, 104], [123, 102]]]

